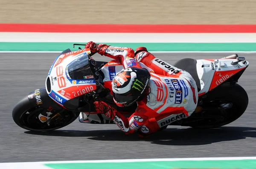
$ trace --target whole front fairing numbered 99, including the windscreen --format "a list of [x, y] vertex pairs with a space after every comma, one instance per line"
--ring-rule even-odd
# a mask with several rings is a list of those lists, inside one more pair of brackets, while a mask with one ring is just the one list
[[60, 54], [52, 64], [45, 85], [49, 97], [61, 106], [68, 100], [96, 89], [88, 54], [90, 49], [67, 51]]

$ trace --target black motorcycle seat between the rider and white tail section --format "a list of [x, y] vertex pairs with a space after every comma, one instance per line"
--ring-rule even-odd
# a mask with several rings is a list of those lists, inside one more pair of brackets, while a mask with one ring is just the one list
[[177, 61], [173, 64], [173, 66], [185, 70], [186, 72], [189, 72], [193, 79], [195, 80], [196, 86], [198, 88], [198, 92], [201, 90], [200, 86], [200, 80], [198, 77], [197, 69], [196, 69], [196, 60], [191, 58], [185, 58]]

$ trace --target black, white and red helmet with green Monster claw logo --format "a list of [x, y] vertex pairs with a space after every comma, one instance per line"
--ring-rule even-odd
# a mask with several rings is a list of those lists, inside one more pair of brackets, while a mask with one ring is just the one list
[[117, 106], [131, 106], [140, 99], [148, 85], [150, 74], [147, 69], [124, 69], [112, 81], [113, 100]]

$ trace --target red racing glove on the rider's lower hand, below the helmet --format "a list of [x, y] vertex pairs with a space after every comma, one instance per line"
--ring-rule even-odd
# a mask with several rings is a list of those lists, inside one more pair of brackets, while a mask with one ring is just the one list
[[117, 110], [109, 106], [107, 103], [103, 101], [96, 101], [94, 102], [94, 105], [97, 113], [104, 113], [105, 116], [111, 118], [112, 120], [116, 116]]

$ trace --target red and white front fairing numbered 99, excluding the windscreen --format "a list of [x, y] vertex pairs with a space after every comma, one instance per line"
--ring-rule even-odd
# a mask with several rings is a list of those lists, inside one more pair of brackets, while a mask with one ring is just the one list
[[70, 63], [83, 56], [87, 57], [88, 54], [90, 54], [90, 49], [68, 52], [58, 56], [52, 64], [47, 76], [51, 83], [51, 89], [47, 90], [47, 94], [61, 106], [67, 100], [96, 89], [96, 81], [93, 76], [85, 76], [84, 79], [72, 79], [67, 72]]

